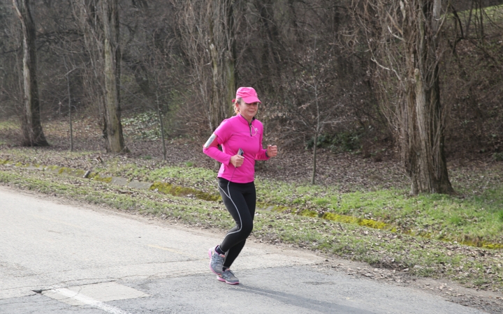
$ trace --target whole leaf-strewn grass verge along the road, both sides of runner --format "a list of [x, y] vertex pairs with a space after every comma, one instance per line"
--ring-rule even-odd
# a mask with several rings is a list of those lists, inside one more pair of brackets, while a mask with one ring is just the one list
[[[193, 162], [167, 165], [150, 156], [137, 159], [107, 156], [105, 163], [96, 162], [95, 157], [96, 152], [92, 151], [0, 151], [0, 158], [10, 158], [20, 165], [60, 165], [81, 170], [93, 167], [102, 177], [156, 181], [158, 190], [171, 195], [189, 191], [192, 195], [201, 192], [205, 197], [194, 199], [117, 188], [99, 181], [1, 165], [0, 182], [198, 227], [221, 230], [231, 227], [231, 218], [216, 198], [214, 170], [197, 167]], [[341, 190], [348, 189], [258, 176], [258, 207], [270, 211], [258, 211], [254, 237], [377, 267], [409, 269], [413, 276], [451, 278], [467, 286], [503, 291], [502, 250], [498, 249], [503, 244], [501, 168], [500, 163], [493, 163], [483, 170], [451, 169], [451, 181], [460, 193], [458, 196], [411, 197], [400, 186], [387, 189], [354, 186], [351, 192], [342, 193]]]

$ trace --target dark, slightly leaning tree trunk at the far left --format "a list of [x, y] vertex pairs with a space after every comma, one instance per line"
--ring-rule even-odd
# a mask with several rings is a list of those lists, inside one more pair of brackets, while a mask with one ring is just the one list
[[42, 130], [40, 100], [36, 78], [36, 33], [29, 10], [29, 0], [13, 0], [22, 25], [24, 105], [22, 117], [23, 146], [49, 146]]

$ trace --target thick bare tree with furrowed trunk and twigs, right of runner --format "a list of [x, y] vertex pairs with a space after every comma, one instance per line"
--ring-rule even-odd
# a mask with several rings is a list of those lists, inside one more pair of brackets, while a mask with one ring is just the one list
[[411, 194], [454, 193], [444, 152], [449, 107], [440, 101], [442, 0], [357, 3], [381, 107], [411, 179]]

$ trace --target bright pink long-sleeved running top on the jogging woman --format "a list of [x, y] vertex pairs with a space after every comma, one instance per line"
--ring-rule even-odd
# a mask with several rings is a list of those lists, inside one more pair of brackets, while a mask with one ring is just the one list
[[[240, 114], [222, 121], [217, 130], [217, 141], [222, 147], [203, 148], [204, 154], [222, 163], [218, 177], [235, 183], [249, 183], [254, 181], [255, 160], [268, 160], [266, 149], [262, 147], [263, 125], [261, 121], [253, 119], [251, 124]], [[231, 156], [242, 149], [245, 160], [240, 167], [234, 167]]]

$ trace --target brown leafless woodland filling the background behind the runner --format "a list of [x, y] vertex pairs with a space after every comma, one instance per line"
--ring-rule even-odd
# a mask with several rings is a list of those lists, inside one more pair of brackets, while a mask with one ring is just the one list
[[[74, 114], [107, 138], [101, 11], [110, 5], [117, 117], [143, 117], [136, 140], [158, 140], [146, 131], [160, 117], [168, 139], [202, 143], [231, 115], [236, 87], [251, 86], [268, 142], [377, 161], [402, 150], [390, 108], [404, 101], [393, 56], [403, 54], [395, 15], [407, 1], [1, 0], [2, 120], [25, 114], [23, 31], [13, 8], [21, 2], [36, 32], [42, 125]], [[503, 160], [502, 1], [437, 2], [445, 156]], [[106, 140], [96, 146], [106, 149]]]

